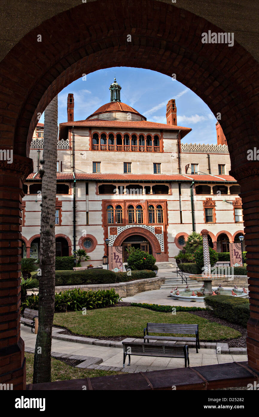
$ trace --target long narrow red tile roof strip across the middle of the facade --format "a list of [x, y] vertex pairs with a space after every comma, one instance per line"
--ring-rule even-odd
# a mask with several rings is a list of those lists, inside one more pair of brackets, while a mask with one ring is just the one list
[[[35, 177], [34, 177], [35, 176]], [[34, 177], [34, 178], [33, 178]], [[220, 178], [219, 178], [220, 177]], [[210, 182], [237, 182], [230, 175], [180, 175], [180, 174], [118, 174], [118, 173], [86, 173], [76, 172], [76, 180], [96, 180], [96, 181], [210, 181]], [[39, 180], [39, 173], [30, 173], [27, 180]], [[57, 180], [74, 179], [72, 172], [57, 172]]]

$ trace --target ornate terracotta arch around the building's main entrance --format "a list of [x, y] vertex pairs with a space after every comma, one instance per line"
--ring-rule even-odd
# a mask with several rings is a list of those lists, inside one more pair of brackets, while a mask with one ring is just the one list
[[123, 230], [115, 239], [113, 246], [121, 246], [124, 240], [133, 235], [144, 236], [150, 243], [152, 248], [153, 256], [155, 256], [158, 262], [160, 261], [168, 261], [168, 255], [161, 251], [160, 243], [155, 235], [150, 232], [148, 229], [144, 229], [143, 227], [130, 227], [126, 230]]

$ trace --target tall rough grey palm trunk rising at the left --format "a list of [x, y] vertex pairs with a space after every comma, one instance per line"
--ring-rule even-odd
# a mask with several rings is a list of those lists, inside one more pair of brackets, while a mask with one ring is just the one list
[[55, 301], [55, 202], [57, 187], [57, 96], [44, 112], [40, 230], [39, 329], [33, 383], [51, 381], [51, 336]]

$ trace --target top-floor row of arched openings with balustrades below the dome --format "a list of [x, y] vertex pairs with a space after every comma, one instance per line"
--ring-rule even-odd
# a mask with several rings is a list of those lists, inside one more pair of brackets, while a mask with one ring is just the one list
[[121, 135], [117, 133], [98, 133], [93, 134], [92, 149], [94, 151], [140, 151], [140, 152], [160, 152], [160, 138], [158, 135], [143, 134]]

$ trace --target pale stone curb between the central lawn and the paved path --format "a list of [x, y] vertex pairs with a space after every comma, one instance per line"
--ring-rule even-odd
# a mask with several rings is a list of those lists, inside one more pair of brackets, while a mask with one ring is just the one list
[[[122, 339], [121, 342], [114, 342], [113, 340], [99, 340], [99, 339], [91, 339], [90, 337], [81, 337], [81, 336], [72, 336], [69, 334], [59, 334], [60, 332], [64, 332], [64, 329], [58, 329], [57, 327], [52, 328], [52, 339], [64, 340], [66, 342], [74, 342], [74, 343], [84, 343], [84, 344], [92, 344], [96, 346], [105, 346], [105, 347], [117, 347], [123, 348], [122, 341], [125, 342], [143, 342], [143, 339], [135, 339], [131, 337], [127, 337], [126, 339]], [[152, 341], [153, 342], [153, 341]], [[152, 343], [151, 342], [151, 343]], [[156, 342], [153, 342], [156, 343]], [[160, 341], [157, 341], [160, 343]], [[166, 344], [187, 344], [189, 347], [195, 347], [195, 342], [168, 342], [165, 341]], [[200, 342], [201, 349], [217, 349], [218, 353], [221, 354], [235, 354], [235, 355], [247, 355], [247, 349], [244, 347], [230, 347], [228, 343], [219, 343], [219, 342]]]

